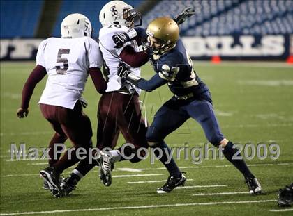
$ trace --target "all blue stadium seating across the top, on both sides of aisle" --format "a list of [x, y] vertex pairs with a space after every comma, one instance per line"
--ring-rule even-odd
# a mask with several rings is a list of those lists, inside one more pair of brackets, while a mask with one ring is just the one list
[[[98, 13], [107, 0], [63, 0], [52, 36], [60, 36], [61, 21], [69, 13], [91, 19], [95, 36], [100, 29]], [[140, 1], [126, 1], [138, 8]], [[44, 1], [1, 1], [1, 38], [33, 38]], [[195, 15], [181, 25], [181, 35], [266, 35], [293, 33], [292, 0], [186, 0], [159, 1], [143, 17], [144, 27], [158, 16], [174, 17], [193, 6]]]

